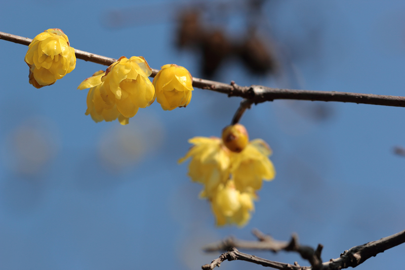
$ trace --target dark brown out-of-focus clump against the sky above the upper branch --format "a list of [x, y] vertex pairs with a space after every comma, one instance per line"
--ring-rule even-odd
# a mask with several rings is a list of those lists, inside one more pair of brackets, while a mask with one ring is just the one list
[[275, 58], [254, 26], [239, 40], [240, 37], [228, 37], [219, 27], [205, 24], [200, 10], [183, 11], [178, 17], [177, 47], [201, 54], [201, 72], [205, 77], [212, 78], [220, 65], [230, 58], [240, 59], [254, 74], [275, 72]]

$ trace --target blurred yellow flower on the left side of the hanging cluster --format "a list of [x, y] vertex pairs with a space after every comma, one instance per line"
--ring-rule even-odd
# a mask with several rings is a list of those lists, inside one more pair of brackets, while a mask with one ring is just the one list
[[188, 140], [194, 146], [179, 163], [191, 158], [188, 175], [194, 182], [204, 185], [201, 197], [211, 197], [221, 183], [229, 178], [229, 150], [221, 139], [194, 137]]

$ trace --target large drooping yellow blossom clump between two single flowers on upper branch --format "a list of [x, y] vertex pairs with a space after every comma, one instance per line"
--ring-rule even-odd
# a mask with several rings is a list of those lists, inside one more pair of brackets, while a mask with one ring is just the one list
[[85, 79], [78, 89], [90, 88], [87, 95], [86, 115], [95, 122], [118, 118], [123, 125], [135, 116], [139, 108], [153, 103], [155, 91], [148, 76], [152, 70], [143, 57], [121, 57], [102, 70]]

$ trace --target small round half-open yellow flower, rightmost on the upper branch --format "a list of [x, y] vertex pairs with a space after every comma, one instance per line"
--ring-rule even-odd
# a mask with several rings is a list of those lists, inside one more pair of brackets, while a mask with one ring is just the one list
[[186, 107], [191, 100], [192, 82], [190, 72], [184, 67], [175, 64], [161, 67], [153, 79], [156, 99], [161, 108], [171, 111], [177, 107]]

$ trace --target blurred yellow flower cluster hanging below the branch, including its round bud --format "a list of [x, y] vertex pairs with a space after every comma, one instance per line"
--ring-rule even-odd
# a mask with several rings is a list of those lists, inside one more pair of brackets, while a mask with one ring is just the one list
[[203, 184], [201, 198], [211, 202], [217, 226], [236, 224], [239, 227], [251, 218], [253, 200], [262, 181], [275, 176], [269, 146], [260, 139], [249, 142], [248, 132], [241, 124], [224, 128], [222, 139], [195, 137], [194, 146], [179, 163], [190, 158], [188, 175]]

